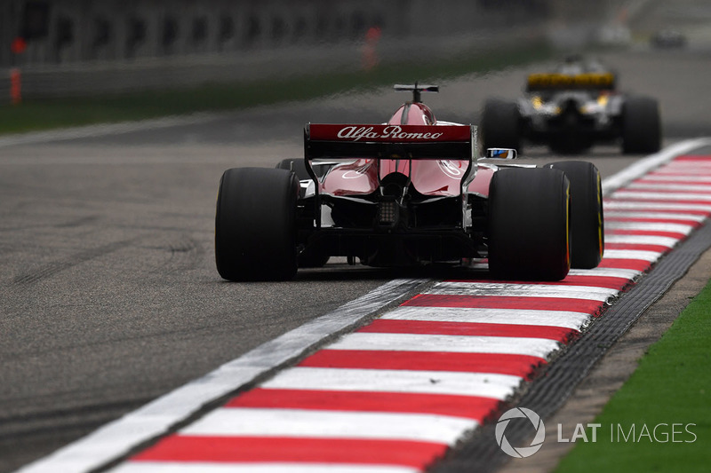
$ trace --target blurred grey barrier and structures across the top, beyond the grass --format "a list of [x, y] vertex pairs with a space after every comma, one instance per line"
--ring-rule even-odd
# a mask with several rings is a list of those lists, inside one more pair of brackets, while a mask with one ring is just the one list
[[13, 80], [24, 99], [174, 89], [533, 44], [693, 42], [709, 20], [701, 0], [3, 0], [0, 103]]

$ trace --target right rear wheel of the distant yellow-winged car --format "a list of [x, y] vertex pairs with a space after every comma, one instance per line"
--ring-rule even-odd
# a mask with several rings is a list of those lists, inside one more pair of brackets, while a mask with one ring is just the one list
[[656, 153], [661, 147], [659, 104], [649, 97], [630, 97], [622, 106], [622, 152]]

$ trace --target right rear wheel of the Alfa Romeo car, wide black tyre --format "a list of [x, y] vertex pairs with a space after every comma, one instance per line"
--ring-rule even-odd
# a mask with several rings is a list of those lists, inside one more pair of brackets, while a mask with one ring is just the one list
[[562, 280], [570, 270], [570, 183], [558, 169], [501, 169], [489, 190], [489, 270], [503, 280]]

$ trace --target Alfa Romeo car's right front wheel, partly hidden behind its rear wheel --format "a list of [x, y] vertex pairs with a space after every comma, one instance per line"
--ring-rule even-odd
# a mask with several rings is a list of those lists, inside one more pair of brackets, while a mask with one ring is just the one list
[[603, 259], [603, 187], [592, 162], [553, 162], [571, 182], [571, 267], [595, 268]]

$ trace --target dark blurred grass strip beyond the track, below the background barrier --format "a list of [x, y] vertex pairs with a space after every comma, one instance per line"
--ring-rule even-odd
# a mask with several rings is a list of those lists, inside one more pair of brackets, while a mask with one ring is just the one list
[[314, 99], [344, 91], [367, 91], [392, 83], [421, 83], [497, 70], [547, 59], [551, 54], [547, 47], [535, 43], [419, 64], [381, 64], [371, 71], [332, 72], [284, 80], [207, 84], [191, 89], [96, 97], [26, 99], [18, 106], [0, 106], [0, 134]]

